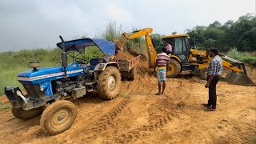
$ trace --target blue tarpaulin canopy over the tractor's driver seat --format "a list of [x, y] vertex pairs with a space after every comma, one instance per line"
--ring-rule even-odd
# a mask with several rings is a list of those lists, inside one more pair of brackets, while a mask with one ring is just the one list
[[[62, 49], [62, 42], [57, 43], [57, 46]], [[64, 42], [64, 46], [66, 52], [74, 50], [83, 53], [87, 46], [97, 46], [104, 54], [115, 54], [114, 42], [110, 42], [102, 38], [82, 38], [73, 41], [66, 41]]]

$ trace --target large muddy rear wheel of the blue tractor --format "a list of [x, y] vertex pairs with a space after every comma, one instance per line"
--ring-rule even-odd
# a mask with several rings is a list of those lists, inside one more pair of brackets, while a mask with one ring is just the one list
[[117, 97], [121, 89], [121, 74], [114, 66], [108, 66], [98, 76], [98, 94], [104, 99], [113, 99]]

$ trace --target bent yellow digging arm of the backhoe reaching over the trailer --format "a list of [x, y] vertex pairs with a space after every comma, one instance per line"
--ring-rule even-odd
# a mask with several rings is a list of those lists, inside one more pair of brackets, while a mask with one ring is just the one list
[[149, 66], [150, 68], [154, 68], [156, 66], [156, 58], [157, 58], [157, 51], [154, 49], [153, 43], [150, 38], [150, 34], [152, 33], [152, 28], [144, 28], [142, 30], [136, 30], [132, 32], [124, 32], [122, 35], [126, 39], [133, 39], [145, 36], [146, 38], [146, 48], [149, 55]]

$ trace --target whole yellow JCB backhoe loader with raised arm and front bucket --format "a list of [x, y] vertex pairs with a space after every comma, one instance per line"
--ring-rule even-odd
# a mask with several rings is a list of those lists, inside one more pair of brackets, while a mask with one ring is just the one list
[[[152, 28], [144, 28], [142, 30], [123, 33], [123, 36], [127, 40], [145, 36], [150, 68], [155, 67], [157, 58], [157, 51], [154, 49], [150, 38], [152, 31]], [[212, 59], [209, 57], [209, 51], [194, 50], [194, 48], [189, 45], [188, 38], [188, 34], [174, 34], [162, 37], [162, 41], [171, 42], [173, 48], [171, 54], [169, 54], [170, 63], [167, 66], [167, 77], [175, 78], [182, 72], [182, 70], [188, 70], [190, 73], [199, 74], [202, 79], [206, 79], [206, 69]], [[124, 39], [118, 41], [118, 47], [120, 49], [123, 48], [124, 42]], [[229, 82], [239, 85], [256, 86], [247, 76], [246, 68], [242, 62], [238, 62], [223, 54], [219, 54], [219, 56], [222, 57], [222, 65], [230, 69], [225, 77]]]

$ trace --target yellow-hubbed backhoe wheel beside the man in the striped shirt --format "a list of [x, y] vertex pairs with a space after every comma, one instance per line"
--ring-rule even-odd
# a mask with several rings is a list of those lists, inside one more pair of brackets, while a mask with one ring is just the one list
[[175, 78], [181, 73], [182, 67], [175, 59], [170, 59], [170, 63], [167, 66], [167, 77]]

